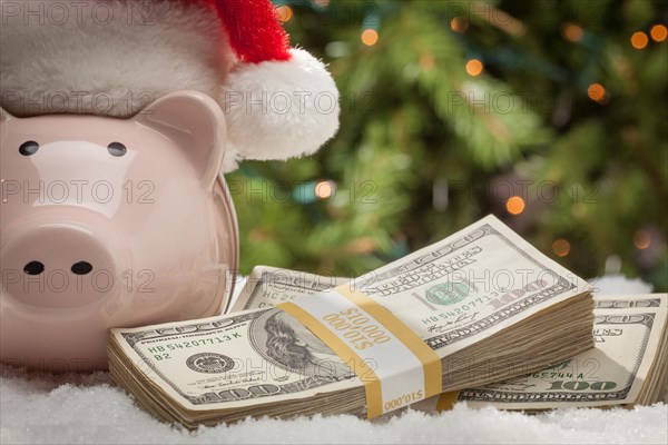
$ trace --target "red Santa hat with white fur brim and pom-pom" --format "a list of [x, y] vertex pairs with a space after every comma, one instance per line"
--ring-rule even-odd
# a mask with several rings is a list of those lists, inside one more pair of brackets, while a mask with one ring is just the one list
[[129, 117], [173, 91], [215, 98], [223, 171], [314, 152], [338, 127], [325, 66], [289, 48], [269, 0], [0, 0], [0, 106]]

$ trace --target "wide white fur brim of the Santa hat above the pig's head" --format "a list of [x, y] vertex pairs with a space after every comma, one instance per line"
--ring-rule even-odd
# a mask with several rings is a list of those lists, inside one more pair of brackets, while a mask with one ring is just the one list
[[215, 13], [179, 1], [2, 1], [0, 105], [128, 117], [177, 90], [216, 97], [235, 61]]

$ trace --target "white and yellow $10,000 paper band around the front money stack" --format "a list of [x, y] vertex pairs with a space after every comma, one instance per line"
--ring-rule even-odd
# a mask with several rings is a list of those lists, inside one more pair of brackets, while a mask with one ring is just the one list
[[441, 393], [441, 359], [390, 310], [342, 285], [277, 306], [311, 329], [360, 378], [377, 417]]

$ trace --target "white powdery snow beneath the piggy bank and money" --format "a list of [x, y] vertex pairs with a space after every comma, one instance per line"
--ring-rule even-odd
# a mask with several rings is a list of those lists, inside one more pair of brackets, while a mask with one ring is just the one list
[[[592, 281], [600, 294], [651, 288], [623, 277]], [[247, 419], [187, 432], [163, 424], [112, 387], [108, 374], [51, 376], [0, 368], [0, 444], [433, 443], [667, 444], [668, 406], [558, 409], [540, 415], [472, 409], [409, 411], [375, 422], [353, 416]]]

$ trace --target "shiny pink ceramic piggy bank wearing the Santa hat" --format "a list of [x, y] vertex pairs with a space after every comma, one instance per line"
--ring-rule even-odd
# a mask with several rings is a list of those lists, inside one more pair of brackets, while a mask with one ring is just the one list
[[194, 91], [130, 119], [2, 112], [0, 359], [107, 367], [110, 327], [219, 314], [238, 260], [225, 120]]

